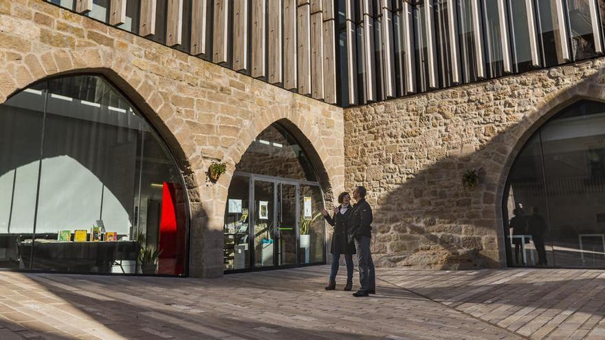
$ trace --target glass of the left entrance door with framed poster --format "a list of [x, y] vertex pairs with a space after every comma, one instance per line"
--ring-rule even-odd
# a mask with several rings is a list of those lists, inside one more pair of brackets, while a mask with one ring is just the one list
[[271, 267], [274, 254], [274, 183], [254, 181], [254, 258], [256, 267]]

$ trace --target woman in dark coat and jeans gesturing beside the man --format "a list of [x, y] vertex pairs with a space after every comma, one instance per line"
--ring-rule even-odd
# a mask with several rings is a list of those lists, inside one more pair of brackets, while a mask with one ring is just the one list
[[340, 203], [340, 206], [334, 207], [333, 217], [330, 216], [326, 209], [322, 211], [329, 225], [334, 227], [330, 246], [332, 267], [330, 270], [330, 281], [326, 286], [326, 290], [333, 291], [336, 289], [338, 262], [340, 262], [340, 255], [344, 254], [344, 260], [347, 262], [347, 284], [344, 286], [344, 290], [351, 291], [353, 288], [353, 254], [355, 253], [355, 245], [349, 242], [349, 215], [351, 214], [351, 196], [349, 196], [349, 192], [342, 192], [338, 195], [338, 203]]

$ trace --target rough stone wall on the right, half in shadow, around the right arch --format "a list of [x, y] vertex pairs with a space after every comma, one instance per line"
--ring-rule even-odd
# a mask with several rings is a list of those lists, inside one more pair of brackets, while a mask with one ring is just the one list
[[[603, 65], [598, 58], [345, 109], [345, 184], [369, 189], [378, 265], [505, 265], [511, 163], [562, 106], [603, 100]], [[478, 187], [465, 188], [473, 169]]]

